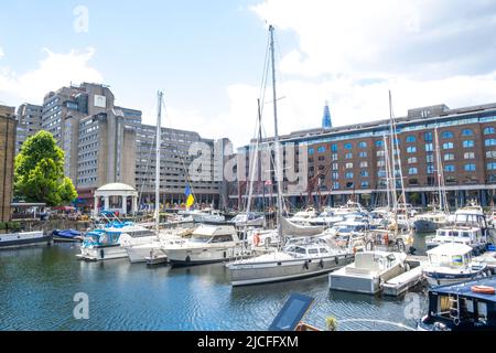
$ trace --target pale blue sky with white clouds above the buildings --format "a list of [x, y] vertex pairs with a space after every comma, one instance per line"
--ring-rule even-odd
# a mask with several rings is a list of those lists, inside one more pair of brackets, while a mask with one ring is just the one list
[[[163, 126], [255, 137], [268, 24], [276, 28], [279, 133], [409, 108], [496, 101], [495, 0], [2, 1], [0, 104], [41, 104], [104, 83], [116, 104]], [[270, 85], [263, 129], [273, 133]]]

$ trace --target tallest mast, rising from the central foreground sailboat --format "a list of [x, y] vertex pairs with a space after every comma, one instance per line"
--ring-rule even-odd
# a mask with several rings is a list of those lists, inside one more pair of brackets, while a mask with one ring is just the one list
[[273, 98], [273, 147], [276, 154], [276, 181], [278, 183], [278, 235], [282, 237], [282, 224], [280, 218], [282, 217], [282, 178], [281, 178], [281, 164], [279, 160], [279, 131], [278, 131], [278, 98], [276, 94], [276, 58], [274, 58], [274, 45], [273, 45], [273, 25], [269, 25], [270, 32], [270, 56], [272, 62], [272, 98]]

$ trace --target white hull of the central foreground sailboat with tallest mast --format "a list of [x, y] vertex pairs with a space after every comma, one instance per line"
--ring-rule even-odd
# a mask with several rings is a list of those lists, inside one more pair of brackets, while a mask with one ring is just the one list
[[248, 263], [228, 266], [234, 287], [293, 280], [328, 274], [353, 261], [353, 255], [294, 259], [267, 263]]

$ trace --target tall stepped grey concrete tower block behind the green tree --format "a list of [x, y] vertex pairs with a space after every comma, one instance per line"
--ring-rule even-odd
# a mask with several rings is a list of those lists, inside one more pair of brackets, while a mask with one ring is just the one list
[[43, 100], [41, 128], [64, 150], [64, 172], [88, 203], [104, 184], [133, 184], [133, 125], [140, 122], [140, 111], [115, 106], [114, 94], [100, 84], [62, 87]]

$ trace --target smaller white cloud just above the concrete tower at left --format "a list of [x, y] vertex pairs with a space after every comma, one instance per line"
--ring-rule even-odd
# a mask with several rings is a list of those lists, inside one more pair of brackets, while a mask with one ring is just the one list
[[53, 53], [48, 49], [43, 51], [46, 56], [35, 69], [22, 74], [9, 67], [0, 69], [0, 93], [10, 99], [9, 104], [41, 104], [46, 93], [67, 86], [71, 82], [103, 82], [101, 74], [89, 64], [95, 55], [94, 49], [72, 50], [68, 53]]

